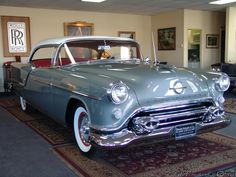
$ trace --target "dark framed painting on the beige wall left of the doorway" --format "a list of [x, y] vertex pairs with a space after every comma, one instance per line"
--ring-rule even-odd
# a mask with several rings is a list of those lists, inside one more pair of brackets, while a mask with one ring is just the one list
[[176, 28], [158, 29], [158, 50], [176, 49]]

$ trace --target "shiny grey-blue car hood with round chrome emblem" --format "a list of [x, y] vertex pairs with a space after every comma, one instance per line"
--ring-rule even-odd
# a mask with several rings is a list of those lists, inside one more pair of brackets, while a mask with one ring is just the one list
[[91, 74], [93, 82], [122, 81], [136, 94], [141, 106], [208, 96], [205, 79], [185, 68], [107, 63], [76, 65], [71, 69], [84, 76]]

